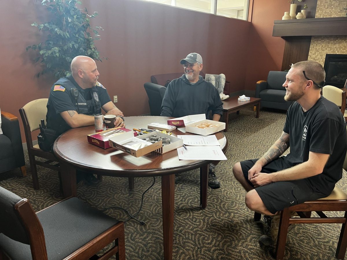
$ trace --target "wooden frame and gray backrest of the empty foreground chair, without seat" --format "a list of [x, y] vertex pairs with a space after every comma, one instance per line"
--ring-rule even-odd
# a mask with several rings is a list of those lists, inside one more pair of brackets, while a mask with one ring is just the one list
[[[54, 207], [60, 202], [50, 207]], [[0, 214], [2, 216], [2, 221], [0, 223], [0, 232], [12, 240], [30, 245], [30, 252], [28, 253], [31, 253], [32, 259], [48, 260], [44, 228], [42, 227], [41, 222], [30, 202], [27, 199], [22, 199], [16, 194], [0, 187], [0, 205]], [[44, 210], [45, 209], [43, 209], [42, 211]], [[66, 208], [64, 210], [69, 209]], [[76, 218], [78, 218], [78, 214], [76, 214]], [[82, 216], [80, 216], [80, 218], [82, 218]], [[82, 232], [83, 231], [81, 231], [81, 233]], [[55, 237], [54, 239], [59, 240], [59, 237]], [[111, 228], [105, 230], [100, 235], [97, 235], [90, 242], [83, 245], [75, 252], [70, 253], [64, 259], [88, 259], [90, 258], [91, 254], [93, 255], [99, 252], [102, 248], [105, 247], [105, 245], [108, 245], [112, 241], [115, 241], [115, 245], [110, 250], [108, 250], [100, 259], [109, 259], [112, 255], [116, 254], [117, 260], [125, 260], [125, 239], [123, 222], [118, 222], [116, 225], [113, 225]], [[20, 251], [22, 250], [25, 251], [25, 249], [21, 248]], [[1, 248], [0, 246], [0, 259], [2, 259], [1, 257], [6, 257], [6, 251], [6, 245], [5, 248]]]

